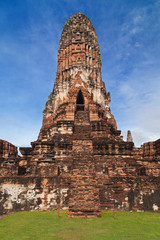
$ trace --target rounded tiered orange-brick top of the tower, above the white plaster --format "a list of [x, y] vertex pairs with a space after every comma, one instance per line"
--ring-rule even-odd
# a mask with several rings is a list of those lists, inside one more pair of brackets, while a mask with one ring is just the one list
[[[58, 50], [56, 83], [71, 78], [75, 69], [95, 73], [101, 81], [101, 57], [95, 29], [87, 16], [76, 13], [63, 28]], [[98, 74], [99, 72], [99, 74]], [[93, 78], [93, 76], [90, 76]]]

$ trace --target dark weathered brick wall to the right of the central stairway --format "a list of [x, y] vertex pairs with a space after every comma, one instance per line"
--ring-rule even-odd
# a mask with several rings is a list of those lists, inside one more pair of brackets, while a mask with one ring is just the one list
[[101, 202], [119, 210], [160, 211], [160, 165], [124, 155], [96, 160]]

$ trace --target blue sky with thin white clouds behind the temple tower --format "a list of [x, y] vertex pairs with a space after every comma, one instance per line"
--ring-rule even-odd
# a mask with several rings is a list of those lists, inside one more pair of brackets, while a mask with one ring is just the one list
[[102, 78], [124, 139], [160, 138], [159, 0], [0, 0], [0, 138], [29, 146], [53, 89], [64, 23], [76, 12], [96, 29]]

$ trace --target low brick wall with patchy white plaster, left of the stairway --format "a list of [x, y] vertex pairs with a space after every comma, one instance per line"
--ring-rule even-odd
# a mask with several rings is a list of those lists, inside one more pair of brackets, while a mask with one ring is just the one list
[[53, 210], [68, 203], [68, 181], [60, 177], [1, 178], [0, 213]]

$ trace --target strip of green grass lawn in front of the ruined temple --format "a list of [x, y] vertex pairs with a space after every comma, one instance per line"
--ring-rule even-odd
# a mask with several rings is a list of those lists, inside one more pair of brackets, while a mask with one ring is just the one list
[[101, 218], [57, 218], [57, 212], [17, 212], [0, 220], [1, 240], [160, 240], [160, 214], [116, 212]]

